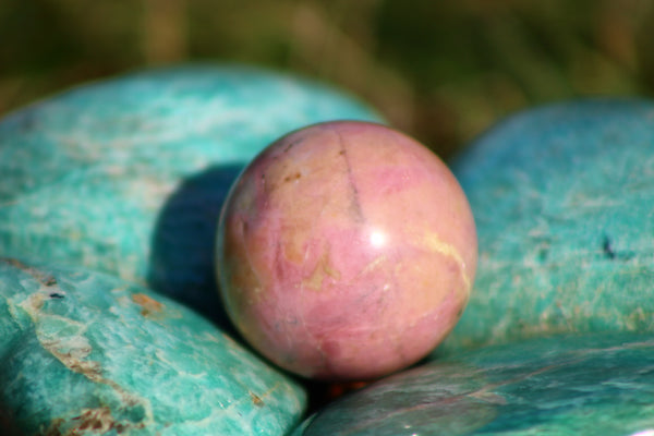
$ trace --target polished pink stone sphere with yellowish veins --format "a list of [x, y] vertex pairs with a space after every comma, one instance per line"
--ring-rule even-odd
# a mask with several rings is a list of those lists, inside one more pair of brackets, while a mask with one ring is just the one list
[[476, 232], [426, 147], [355, 121], [278, 140], [220, 216], [218, 276], [244, 338], [305, 377], [370, 379], [433, 350], [468, 302]]

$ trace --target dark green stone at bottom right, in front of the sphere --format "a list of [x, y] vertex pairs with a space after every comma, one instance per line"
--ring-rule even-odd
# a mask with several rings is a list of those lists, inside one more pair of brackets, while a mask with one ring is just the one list
[[586, 335], [431, 362], [343, 397], [293, 436], [651, 436], [654, 336]]

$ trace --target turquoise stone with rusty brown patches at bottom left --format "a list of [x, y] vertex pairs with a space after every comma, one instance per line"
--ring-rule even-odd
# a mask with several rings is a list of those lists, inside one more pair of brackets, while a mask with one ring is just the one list
[[0, 259], [0, 434], [286, 435], [304, 390], [174, 301]]

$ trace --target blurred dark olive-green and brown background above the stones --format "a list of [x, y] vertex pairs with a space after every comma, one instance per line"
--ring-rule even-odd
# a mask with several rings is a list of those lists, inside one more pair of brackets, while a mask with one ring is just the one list
[[654, 95], [654, 1], [0, 0], [0, 117], [186, 61], [335, 84], [448, 158], [525, 107]]

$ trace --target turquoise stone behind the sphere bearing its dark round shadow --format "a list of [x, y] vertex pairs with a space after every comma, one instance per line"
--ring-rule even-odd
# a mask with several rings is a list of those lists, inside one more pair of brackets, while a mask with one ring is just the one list
[[291, 130], [379, 117], [324, 84], [189, 65], [82, 86], [0, 122], [0, 254], [218, 304], [214, 233], [241, 168]]

